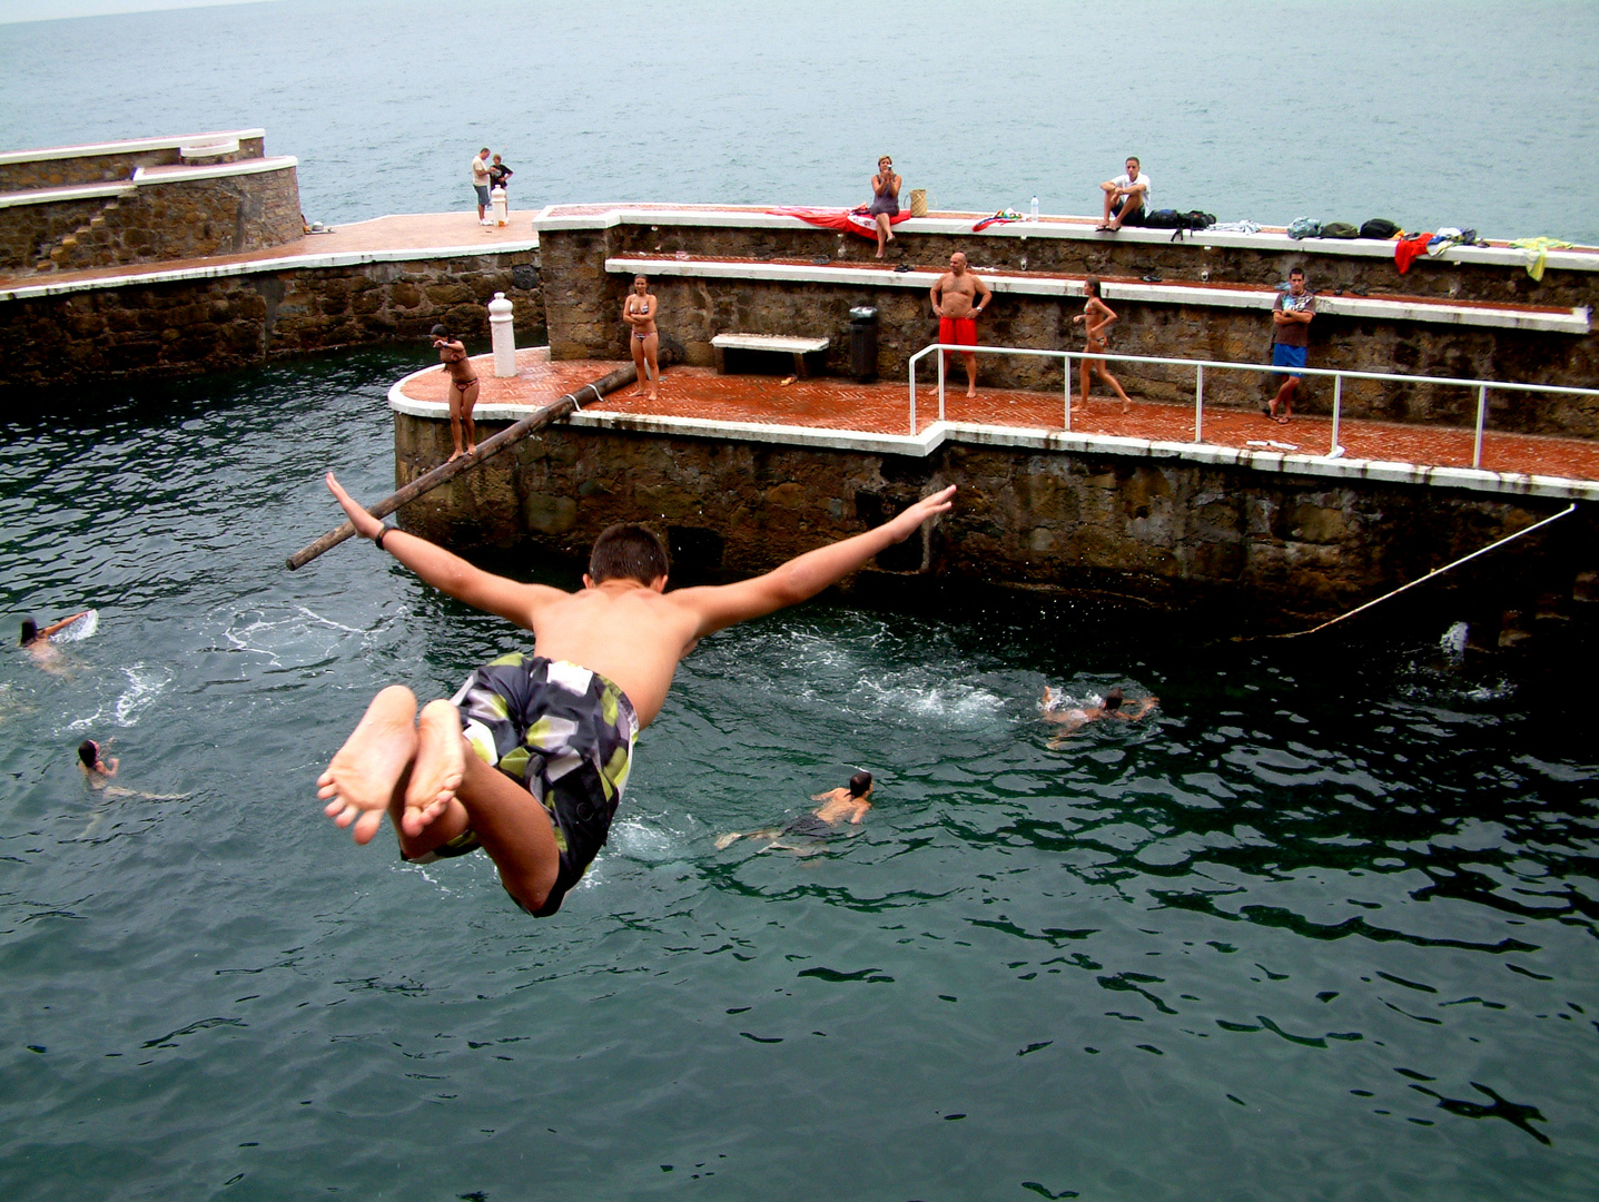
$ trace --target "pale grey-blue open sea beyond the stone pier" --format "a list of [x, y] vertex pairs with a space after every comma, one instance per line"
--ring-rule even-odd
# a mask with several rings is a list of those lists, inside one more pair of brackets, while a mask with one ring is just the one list
[[512, 198], [1158, 206], [1599, 243], [1599, 5], [289, 0], [0, 26], [0, 145], [264, 126], [309, 217]]

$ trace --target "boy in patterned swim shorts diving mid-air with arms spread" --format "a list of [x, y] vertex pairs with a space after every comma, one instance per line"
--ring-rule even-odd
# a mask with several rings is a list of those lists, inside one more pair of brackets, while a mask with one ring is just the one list
[[[584, 588], [568, 593], [473, 567], [414, 534], [385, 527], [328, 473], [355, 532], [422, 580], [534, 636], [417, 718], [405, 686], [384, 689], [317, 778], [326, 814], [368, 842], [387, 812], [406, 860], [483, 847], [505, 892], [545, 917], [606, 841], [633, 740], [667, 699], [678, 660], [718, 630], [815, 596], [947, 513], [955, 488], [884, 524], [819, 547], [732, 585], [667, 588], [667, 548], [619, 524], [596, 540]], [[457, 708], [459, 706], [459, 708]]]

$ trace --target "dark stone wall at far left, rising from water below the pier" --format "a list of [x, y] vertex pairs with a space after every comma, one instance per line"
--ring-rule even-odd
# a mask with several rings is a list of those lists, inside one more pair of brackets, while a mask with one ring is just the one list
[[208, 280], [0, 300], [0, 417], [35, 388], [246, 368], [280, 355], [425, 342], [433, 323], [488, 342], [494, 293], [516, 337], [544, 337], [536, 251], [358, 267], [249, 270]]

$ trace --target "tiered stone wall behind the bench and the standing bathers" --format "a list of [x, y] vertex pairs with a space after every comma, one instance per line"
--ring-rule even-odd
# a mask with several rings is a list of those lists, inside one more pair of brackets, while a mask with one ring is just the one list
[[[1599, 308], [1599, 277], [1591, 272], [1549, 270], [1538, 283], [1519, 267], [1422, 259], [1401, 275], [1391, 257], [1209, 248], [1202, 235], [1182, 243], [1132, 243], [905, 233], [900, 243], [905, 261], [918, 267], [935, 267], [963, 249], [979, 270], [1097, 273], [1132, 280], [1161, 277], [1172, 283], [1198, 285], [1202, 280], [1262, 288], [1284, 280], [1290, 267], [1305, 267], [1322, 294], [1362, 289], [1396, 297]], [[608, 256], [672, 256], [683, 251], [801, 262], [827, 256], [836, 264], [852, 264], [865, 262], [875, 253], [871, 243], [828, 230], [652, 229], [633, 224], [606, 230], [542, 230], [540, 249], [548, 281], [550, 352], [555, 358], [627, 356], [627, 334], [617, 313], [630, 280], [604, 270]], [[903, 379], [910, 355], [937, 340], [937, 320], [924, 289], [692, 277], [657, 277], [651, 286], [660, 297], [664, 339], [676, 340], [688, 361], [696, 364], [713, 361], [710, 339], [720, 332], [803, 334], [828, 337], [827, 371], [847, 374], [849, 310], [855, 305], [879, 310], [879, 376]], [[1113, 350], [1118, 353], [1270, 361], [1271, 321], [1263, 310], [1126, 299], [1115, 299], [1113, 305], [1119, 316], [1113, 328]], [[979, 336], [993, 345], [1081, 350], [1083, 340], [1071, 324], [1079, 312], [1081, 299], [998, 294]], [[924, 363], [926, 379], [932, 379], [931, 358]], [[1599, 388], [1599, 334], [1322, 313], [1311, 324], [1310, 363], [1313, 368]], [[1116, 364], [1115, 371], [1138, 395], [1170, 401], [1193, 398], [1194, 372], [1188, 368]], [[990, 356], [983, 360], [982, 379], [995, 387], [1051, 392], [1062, 387], [1060, 368], [1043, 360]], [[1212, 371], [1206, 377], [1207, 404], [1255, 408], [1273, 390], [1265, 374]], [[1599, 398], [1492, 392], [1489, 398], [1492, 428], [1599, 438]], [[1447, 425], [1471, 425], [1476, 420], [1476, 395], [1465, 388], [1346, 380], [1343, 406], [1353, 417]], [[1330, 412], [1332, 382], [1306, 377], [1297, 408]]]

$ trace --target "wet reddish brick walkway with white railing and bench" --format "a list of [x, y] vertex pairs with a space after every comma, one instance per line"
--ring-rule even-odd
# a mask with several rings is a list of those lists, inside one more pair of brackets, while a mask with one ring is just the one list
[[[516, 355], [516, 379], [494, 379], [494, 363], [488, 355], [473, 360], [481, 379], [478, 404], [539, 406], [580, 388], [590, 380], [624, 366], [601, 360], [563, 360], [550, 363], [544, 347]], [[446, 379], [441, 369], [411, 379], [405, 395], [416, 401], [446, 403]], [[758, 422], [768, 425], [801, 425], [867, 433], [910, 433], [907, 388], [900, 380], [855, 384], [823, 377], [782, 384], [776, 376], [718, 376], [710, 368], [672, 368], [660, 385], [660, 396], [649, 401], [633, 388], [584, 404], [585, 412], [651, 414], [659, 417], [697, 417], [712, 422]], [[926, 430], [939, 416], [934, 387], [916, 388], [916, 425]], [[964, 390], [947, 393], [945, 417], [951, 422], [974, 422], [996, 427], [1023, 427], [1059, 432], [1062, 428], [1060, 393], [979, 388], [966, 398]], [[1071, 417], [1075, 433], [1154, 441], [1193, 441], [1193, 406], [1140, 401], [1134, 398], [1127, 414], [1115, 400], [1094, 395], [1087, 409]], [[1447, 427], [1399, 425], [1345, 419], [1338, 441], [1345, 459], [1374, 459], [1417, 464], [1423, 467], [1471, 467], [1471, 430]], [[1327, 417], [1295, 417], [1278, 425], [1258, 412], [1239, 409], [1207, 409], [1204, 441], [1210, 446], [1249, 449], [1292, 449], [1324, 456], [1332, 444], [1332, 420]], [[1262, 448], [1274, 441], [1287, 448]], [[1257, 446], [1250, 448], [1250, 443]], [[1599, 443], [1577, 438], [1538, 435], [1506, 435], [1489, 432], [1482, 440], [1482, 467], [1490, 472], [1564, 476], [1567, 480], [1599, 480]]]

